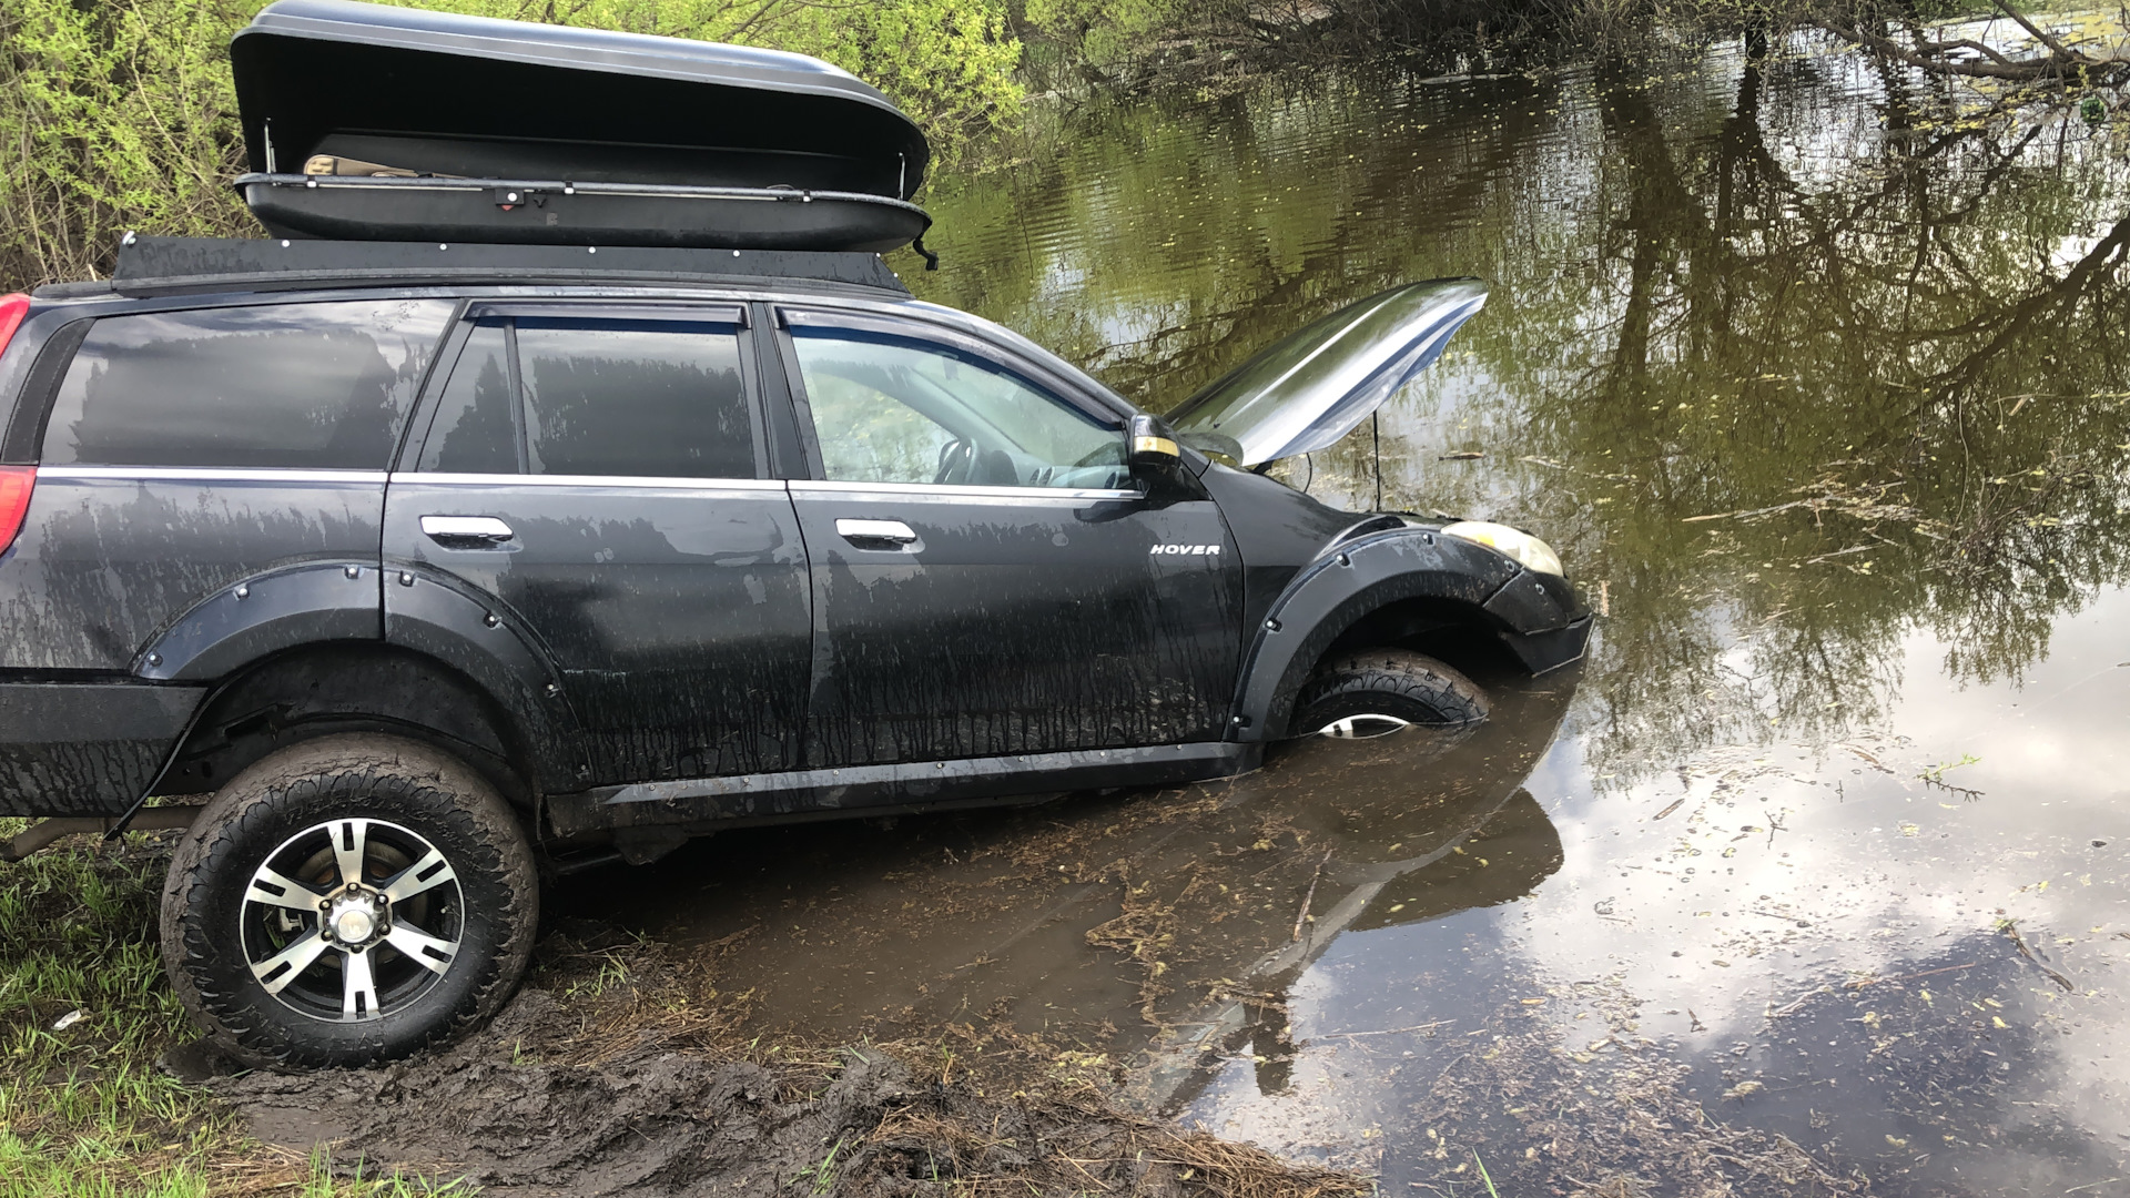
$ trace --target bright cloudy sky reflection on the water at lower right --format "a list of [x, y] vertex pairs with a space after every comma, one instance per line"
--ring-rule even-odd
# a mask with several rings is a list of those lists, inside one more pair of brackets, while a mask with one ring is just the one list
[[[1940, 671], [1945, 646], [1915, 635], [1902, 646], [1906, 686], [1872, 735], [1715, 748], [1617, 791], [1587, 774], [1583, 750], [1593, 733], [1563, 729], [1527, 787], [1559, 827], [1566, 865], [1502, 908], [1342, 936], [1293, 987], [1295, 1038], [1306, 1042], [1293, 1089], [1259, 1094], [1250, 1062], [1235, 1059], [1189, 1117], [1336, 1157], [1380, 1134], [1395, 1157], [1399, 1143], [1410, 1149], [1423, 1136], [1402, 1126], [1412, 1076], [1397, 1066], [1414, 1045], [1470, 1032], [1489, 1042], [1504, 1002], [1553, 995], [1542, 1006], [1561, 1047], [1587, 1049], [1617, 1027], [1576, 1019], [1595, 991], [1578, 1000], [1563, 987], [1602, 983], [1604, 993], [1638, 1004], [1625, 1038], [1674, 1049], [1713, 1113], [1742, 1123], [1768, 1117], [1804, 1143], [1832, 1138], [1847, 1155], [1877, 1157], [1874, 1170], [1938, 1149], [1938, 1168], [1917, 1166], [1923, 1177], [1992, 1192], [2041, 1183], [2066, 1147], [2051, 1140], [2036, 1177], [2032, 1153], [1977, 1151], [1981, 1119], [1930, 1132], [1900, 1117], [1898, 1104], [1887, 1113], [1885, 1083], [1874, 1085], [1870, 1066], [1853, 1085], [1832, 1083], [1855, 1068], [1847, 1045], [1817, 1053], [1821, 1045], [1781, 1045], [1798, 1015], [1821, 1025], [1838, 1013], [1853, 1025], [1900, 1008], [1915, 1021], [1913, 1036], [1879, 1017], [1891, 1036], [1879, 1055], [1894, 1057], [1932, 1053], [1940, 1038], [2032, 1036], [2032, 1047], [2004, 1053], [2000, 1076], [1947, 1076], [1945, 1085], [1994, 1108], [2000, 1140], [2017, 1138], [2021, 1126], [2062, 1121], [2100, 1160], [2119, 1155], [2119, 1132], [2130, 1130], [2130, 1004], [2119, 989], [2130, 955], [2121, 938], [2130, 932], [2121, 868], [2130, 853], [2130, 740], [2121, 735], [2130, 663], [2115, 661], [2130, 659], [2126, 620], [2130, 590], [2111, 590], [2060, 622], [2055, 650], [2024, 686], [1960, 686]], [[1919, 778], [1968, 755], [1979, 761], [1945, 770], [1947, 787]], [[2002, 919], [2017, 921], [2030, 949], [2077, 989], [2066, 993], [2021, 961], [1998, 934]], [[1470, 976], [1431, 991], [1412, 983], [1440, 978], [1444, 961]], [[1923, 970], [1936, 972], [1849, 985]], [[1989, 985], [1962, 985], [1979, 978]], [[1834, 993], [1815, 993], [1821, 987]], [[1791, 1013], [1770, 1019], [1783, 1008]], [[1421, 1034], [1350, 1036], [1433, 1021], [1444, 1025], [1425, 1042]], [[1736, 1045], [1749, 1049], [1736, 1055]], [[1442, 1068], [1440, 1053], [1427, 1059]], [[1787, 1087], [1793, 1100], [1723, 1102], [1721, 1089], [1738, 1081]], [[1832, 1115], [1832, 1126], [1815, 1132], [1810, 1115], [1785, 1126], [1798, 1121], [1796, 1102]], [[1859, 1128], [1874, 1134], [1864, 1138]], [[1947, 1147], [1947, 1134], [1966, 1143]], [[1894, 1151], [1885, 1136], [1908, 1147]], [[2096, 1160], [2060, 1164], [2062, 1185], [2111, 1177], [2087, 1172]]]

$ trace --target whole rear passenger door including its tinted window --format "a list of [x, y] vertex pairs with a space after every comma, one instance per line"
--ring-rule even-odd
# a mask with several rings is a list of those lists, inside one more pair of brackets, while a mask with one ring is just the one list
[[[386, 554], [560, 671], [586, 784], [797, 767], [805, 548], [767, 477], [746, 309], [469, 313], [386, 499]], [[386, 588], [386, 633], [411, 588]]]

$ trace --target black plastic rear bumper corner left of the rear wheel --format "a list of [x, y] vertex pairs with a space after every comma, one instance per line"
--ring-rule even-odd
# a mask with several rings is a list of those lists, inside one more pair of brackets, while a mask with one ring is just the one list
[[204, 686], [0, 682], [0, 816], [124, 814], [204, 697]]

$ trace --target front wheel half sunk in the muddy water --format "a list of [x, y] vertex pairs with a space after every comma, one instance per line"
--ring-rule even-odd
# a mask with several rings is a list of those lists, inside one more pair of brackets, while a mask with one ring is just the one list
[[1404, 648], [1367, 648], [1325, 661], [1295, 697], [1295, 735], [1384, 735], [1408, 725], [1474, 725], [1487, 693], [1470, 678]]

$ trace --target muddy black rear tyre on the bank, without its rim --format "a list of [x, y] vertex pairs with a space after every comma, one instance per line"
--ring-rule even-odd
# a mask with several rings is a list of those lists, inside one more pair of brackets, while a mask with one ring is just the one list
[[[379, 1002], [381, 1015], [337, 1023], [268, 993], [239, 921], [253, 910], [245, 897], [253, 870], [277, 846], [358, 816], [411, 829], [445, 855], [460, 897], [458, 942], [449, 966], [405, 1008]], [[277, 1070], [360, 1066], [494, 1015], [524, 976], [537, 923], [532, 853], [486, 778], [411, 740], [328, 735], [258, 761], [200, 810], [164, 883], [162, 961], [185, 1010], [236, 1059]]]

